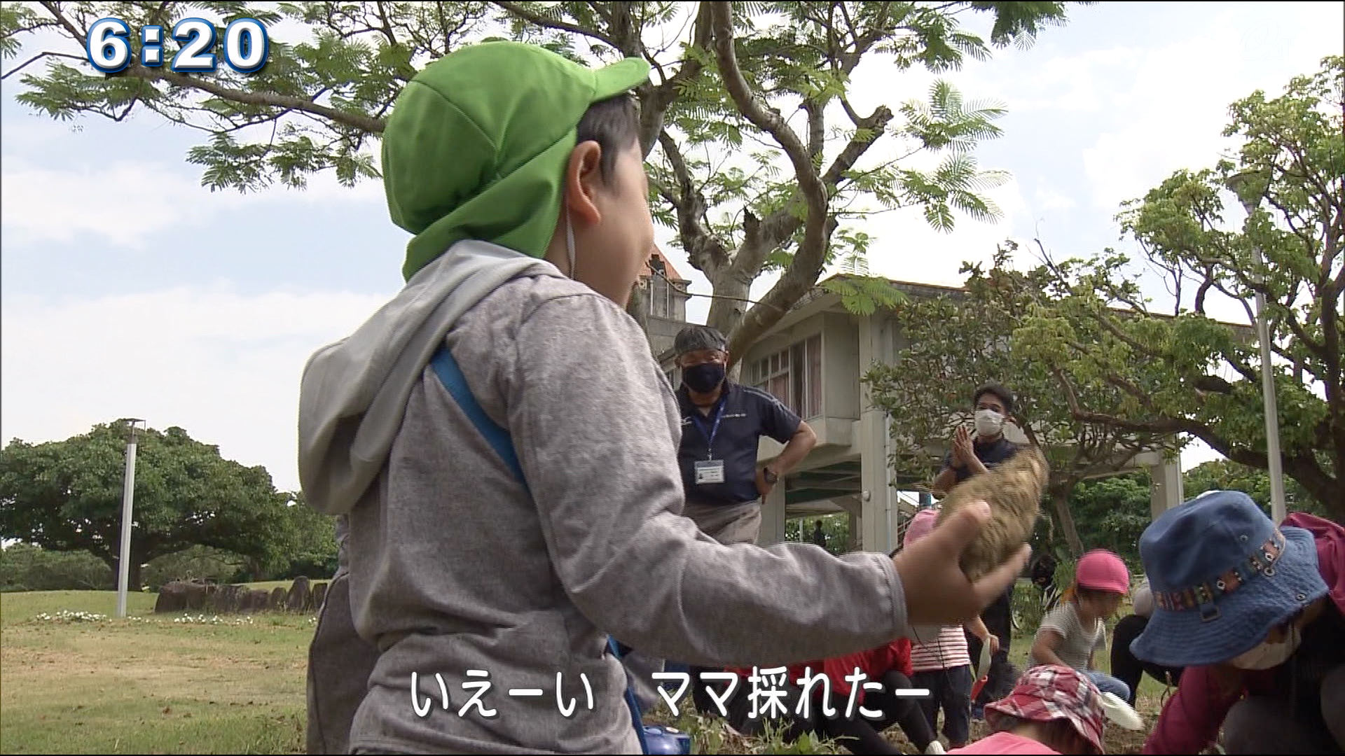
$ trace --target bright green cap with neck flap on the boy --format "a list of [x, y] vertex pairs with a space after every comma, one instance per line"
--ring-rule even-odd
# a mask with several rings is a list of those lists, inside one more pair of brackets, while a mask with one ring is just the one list
[[639, 58], [594, 70], [516, 42], [472, 44], [426, 66], [383, 130], [387, 210], [416, 234], [402, 276], [467, 238], [542, 257], [580, 120], [648, 77]]

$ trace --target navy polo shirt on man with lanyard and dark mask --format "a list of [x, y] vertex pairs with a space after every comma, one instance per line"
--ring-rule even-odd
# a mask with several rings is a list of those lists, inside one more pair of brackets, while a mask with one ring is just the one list
[[[709, 416], [702, 414], [691, 404], [686, 386], [678, 387], [677, 398], [682, 410], [678, 467], [682, 468], [686, 498], [712, 504], [737, 504], [760, 498], [756, 490], [756, 463], [761, 436], [787, 444], [803, 420], [775, 395], [725, 381], [720, 395], [724, 408], [712, 448], [707, 437], [714, 429], [716, 408], [710, 408]], [[707, 459], [724, 460], [724, 483], [695, 484], [694, 463]]]

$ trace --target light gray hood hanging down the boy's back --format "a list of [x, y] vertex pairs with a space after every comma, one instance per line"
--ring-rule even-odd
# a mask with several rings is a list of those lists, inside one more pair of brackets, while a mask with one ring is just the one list
[[359, 502], [444, 336], [488, 293], [526, 276], [564, 277], [545, 260], [457, 242], [359, 330], [308, 359], [299, 390], [299, 482], [309, 506], [342, 515]]

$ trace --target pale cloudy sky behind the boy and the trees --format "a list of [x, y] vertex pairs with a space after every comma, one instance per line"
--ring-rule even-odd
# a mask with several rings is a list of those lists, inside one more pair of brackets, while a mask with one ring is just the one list
[[[1135, 252], [1119, 239], [1119, 203], [1210, 165], [1227, 148], [1227, 106], [1314, 73], [1341, 54], [1345, 28], [1340, 3], [1104, 3], [1071, 16], [1029, 50], [947, 74], [966, 100], [1009, 109], [1005, 135], [976, 153], [1013, 175], [991, 191], [1003, 219], [960, 218], [951, 234], [915, 210], [872, 219], [873, 273], [956, 285], [964, 260], [1034, 235], [1056, 256]], [[381, 184], [320, 176], [304, 192], [211, 194], [184, 160], [203, 135], [148, 112], [55, 122], [13, 101], [17, 79], [0, 86], [0, 437], [58, 440], [143, 417], [297, 488], [304, 361], [401, 285], [408, 239]], [[932, 79], [866, 63], [854, 105], [896, 109]], [[693, 320], [705, 303], [693, 299]], [[1233, 303], [1217, 315], [1244, 320]], [[1213, 456], [1196, 448], [1184, 463]]]

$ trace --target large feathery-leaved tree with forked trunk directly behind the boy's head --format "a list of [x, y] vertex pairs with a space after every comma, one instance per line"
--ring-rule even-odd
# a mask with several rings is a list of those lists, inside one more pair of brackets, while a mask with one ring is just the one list
[[[256, 17], [272, 35], [270, 62], [254, 74], [145, 67], [112, 75], [85, 61], [86, 35], [104, 16], [139, 30], [171, 30], [187, 15], [225, 23]], [[989, 43], [963, 26], [993, 17]], [[1002, 176], [976, 167], [971, 149], [998, 136], [998, 108], [964, 104], [947, 83], [927, 104], [850, 102], [850, 77], [885, 55], [893, 71], [958, 67], [993, 46], [1029, 44], [1063, 23], [1065, 3], [52, 3], [7, 4], [0, 52], [32, 32], [56, 40], [26, 51], [17, 96], [55, 118], [124, 120], [137, 109], [199, 129], [188, 160], [211, 188], [250, 191], [272, 182], [301, 187], [332, 169], [344, 184], [375, 178], [371, 147], [401, 87], [429, 61], [490, 35], [537, 40], [589, 62], [651, 62], [639, 91], [652, 199], [677, 230], [691, 265], [714, 289], [710, 324], [742, 355], [816, 282], [833, 261], [862, 257], [869, 238], [846, 221], [917, 209], [950, 230], [956, 213], [995, 218], [981, 191]], [[281, 39], [277, 24], [311, 39]], [[291, 27], [292, 28], [292, 27]], [[288, 32], [292, 34], [292, 32]], [[660, 38], [655, 44], [652, 40]], [[139, 35], [130, 36], [139, 51]], [[172, 46], [172, 40], [169, 47]], [[172, 50], [165, 50], [165, 58]], [[897, 117], [900, 113], [900, 118]], [[865, 161], [874, 155], [885, 159]], [[909, 157], [944, 159], [917, 169]], [[760, 303], [752, 282], [780, 272]], [[845, 284], [858, 307], [888, 301], [872, 280]], [[751, 307], [749, 307], [751, 305]], [[633, 308], [640, 315], [639, 307]]]

